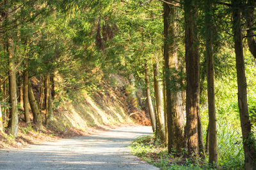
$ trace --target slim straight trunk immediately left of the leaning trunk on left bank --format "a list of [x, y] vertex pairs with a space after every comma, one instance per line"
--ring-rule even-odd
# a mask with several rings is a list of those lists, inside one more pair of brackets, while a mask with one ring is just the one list
[[26, 124], [30, 124], [29, 99], [28, 99], [28, 60], [25, 61], [26, 70], [23, 73], [23, 90], [24, 90], [24, 114]]

